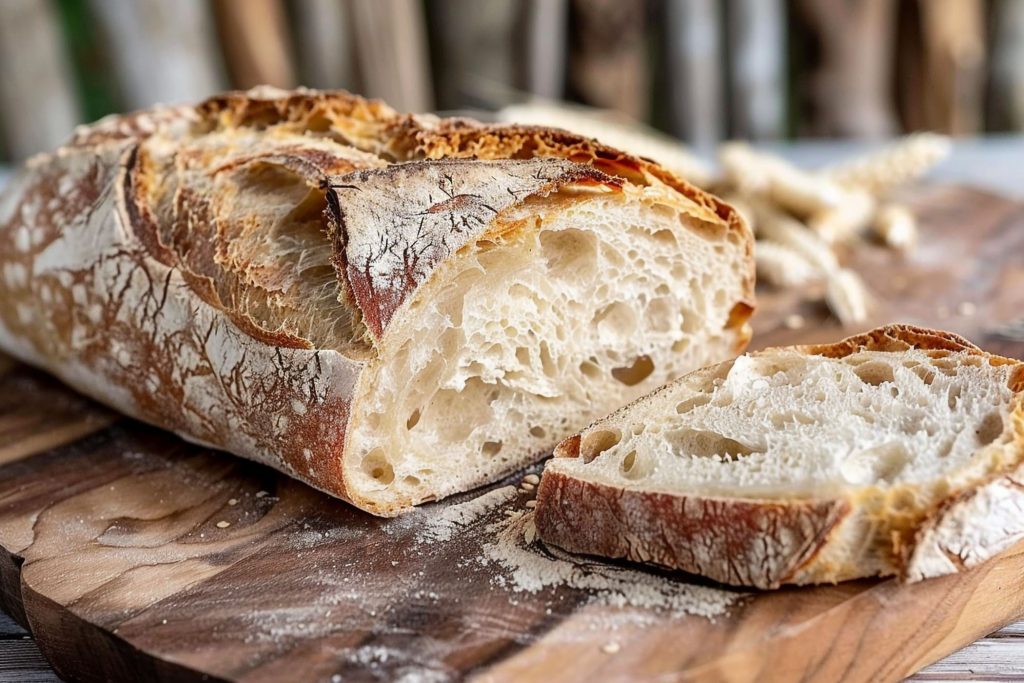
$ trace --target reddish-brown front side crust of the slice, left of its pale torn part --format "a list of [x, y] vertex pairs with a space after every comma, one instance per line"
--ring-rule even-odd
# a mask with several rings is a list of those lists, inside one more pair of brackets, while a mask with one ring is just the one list
[[617, 488], [546, 471], [537, 530], [569, 552], [770, 589], [811, 563], [850, 514], [844, 499], [778, 503]]

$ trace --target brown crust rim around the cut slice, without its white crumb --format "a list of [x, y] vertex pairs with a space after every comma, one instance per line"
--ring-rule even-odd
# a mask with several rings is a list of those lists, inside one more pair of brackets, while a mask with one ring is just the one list
[[[539, 536], [571, 552], [648, 562], [765, 589], [888, 574], [918, 581], [979, 564], [1024, 540], [1024, 364], [986, 353], [957, 335], [907, 325], [797, 348], [844, 357], [858, 350], [899, 352], [911, 347], [939, 356], [967, 352], [992, 365], [1016, 366], [1009, 384], [1017, 396], [999, 439], [1005, 445], [994, 446], [1006, 450], [1007, 466], [984, 481], [949, 490], [931, 509], [902, 511], [898, 501], [905, 492], [899, 486], [809, 500], [681, 496], [586, 481], [549, 464], [538, 489]], [[588, 431], [621, 424], [632, 407], [652, 395]], [[555, 457], [581, 457], [581, 436], [563, 440]], [[864, 539], [863, 525], [882, 520], [891, 538], [857, 547]]]

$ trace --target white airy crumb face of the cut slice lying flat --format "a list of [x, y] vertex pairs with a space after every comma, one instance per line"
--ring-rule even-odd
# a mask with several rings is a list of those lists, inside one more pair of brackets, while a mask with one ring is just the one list
[[584, 433], [581, 458], [551, 467], [627, 488], [748, 499], [920, 487], [919, 504], [1000, 465], [1013, 366], [795, 349], [743, 355]]

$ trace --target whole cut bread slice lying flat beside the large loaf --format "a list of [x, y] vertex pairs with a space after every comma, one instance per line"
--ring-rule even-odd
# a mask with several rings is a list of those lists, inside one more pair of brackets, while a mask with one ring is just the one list
[[1022, 393], [908, 326], [743, 355], [562, 441], [538, 533], [759, 588], [959, 571], [1024, 538]]

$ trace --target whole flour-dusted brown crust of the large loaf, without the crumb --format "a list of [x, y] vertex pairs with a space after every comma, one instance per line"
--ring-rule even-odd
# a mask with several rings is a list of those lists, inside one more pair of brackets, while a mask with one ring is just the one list
[[[175, 167], [161, 166], [163, 152], [186, 143]], [[241, 201], [231, 173], [267, 165], [324, 195], [340, 290], [331, 332], [350, 334], [343, 345], [301, 333], [308, 293], [289, 289], [283, 268], [231, 251], [239, 234], [258, 229], [265, 207], [257, 201], [246, 220], [228, 223], [217, 202]], [[465, 167], [459, 191], [420, 207], [453, 165]], [[403, 232], [390, 253], [404, 257], [389, 260], [371, 244], [387, 210], [371, 194], [393, 181], [407, 190], [393, 215], [423, 230]], [[674, 187], [695, 219], [744, 245], [749, 271], [725, 331], [739, 350], [754, 301], [750, 230], [652, 162], [560, 131], [269, 88], [110, 117], [33, 159], [0, 197], [0, 347], [128, 415], [395, 514], [409, 502], [375, 507], [349, 489], [342, 467], [356, 387], [391, 319], [503, 210], [566, 188], [620, 191], [624, 182]]]

